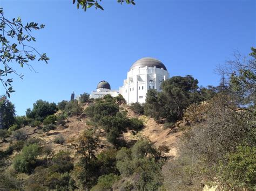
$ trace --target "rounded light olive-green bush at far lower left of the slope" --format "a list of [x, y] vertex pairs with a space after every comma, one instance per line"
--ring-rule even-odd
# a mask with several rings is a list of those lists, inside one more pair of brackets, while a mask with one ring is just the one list
[[36, 159], [39, 155], [40, 147], [37, 144], [24, 146], [22, 152], [14, 158], [13, 164], [17, 172], [31, 173], [36, 166]]

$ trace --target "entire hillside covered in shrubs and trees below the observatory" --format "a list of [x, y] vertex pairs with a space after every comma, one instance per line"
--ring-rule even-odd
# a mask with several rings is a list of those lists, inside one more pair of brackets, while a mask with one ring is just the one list
[[251, 59], [220, 68], [218, 87], [174, 76], [143, 105], [85, 93], [79, 101], [38, 100], [26, 116], [15, 116], [2, 98], [1, 188], [256, 189], [252, 51]]

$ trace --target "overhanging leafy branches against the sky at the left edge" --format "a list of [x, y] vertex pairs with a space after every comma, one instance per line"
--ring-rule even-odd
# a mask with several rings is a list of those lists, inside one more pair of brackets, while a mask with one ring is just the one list
[[[16, 74], [21, 79], [22, 74], [18, 74], [12, 65], [18, 63], [21, 67], [28, 66], [30, 70], [34, 70], [29, 64], [29, 61], [38, 59], [47, 63], [49, 58], [45, 53], [39, 53], [35, 48], [27, 45], [27, 42], [36, 41], [36, 38], [31, 35], [32, 30], [43, 29], [44, 25], [38, 25], [35, 22], [27, 24], [22, 23], [21, 17], [8, 20], [4, 17], [3, 8], [0, 8], [0, 41], [2, 48], [0, 51], [1, 68], [0, 69], [0, 81], [3, 84], [6, 94], [10, 97], [10, 93], [14, 92], [11, 83], [12, 78], [8, 78], [10, 74]], [[26, 42], [26, 43], [25, 43]]]

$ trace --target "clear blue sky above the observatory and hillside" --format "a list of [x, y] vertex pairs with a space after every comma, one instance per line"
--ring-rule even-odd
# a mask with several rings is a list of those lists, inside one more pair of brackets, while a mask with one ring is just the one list
[[[18, 115], [39, 99], [56, 102], [90, 93], [101, 80], [122, 86], [132, 63], [144, 56], [161, 60], [174, 75], [193, 75], [199, 85], [217, 85], [217, 65], [238, 49], [255, 46], [255, 0], [136, 0], [136, 6], [103, 0], [104, 11], [77, 10], [71, 0], [1, 0], [5, 17], [45, 24], [33, 44], [50, 57], [19, 68], [11, 102]], [[1, 94], [4, 93], [0, 87]]]

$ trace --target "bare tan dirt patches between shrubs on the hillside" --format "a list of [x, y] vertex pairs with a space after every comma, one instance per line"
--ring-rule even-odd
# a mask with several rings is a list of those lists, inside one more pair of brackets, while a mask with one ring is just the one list
[[[84, 109], [86, 106], [84, 106]], [[154, 143], [156, 147], [160, 145], [166, 145], [170, 147], [170, 151], [165, 153], [166, 156], [176, 157], [176, 144], [177, 139], [181, 135], [181, 132], [176, 132], [170, 129], [164, 129], [164, 124], [158, 124], [154, 121], [153, 118], [147, 116], [140, 116], [134, 113], [127, 105], [122, 106], [123, 110], [127, 111], [128, 117], [138, 117], [144, 121], [143, 130], [139, 131], [137, 135], [132, 135], [132, 133], [126, 132], [124, 133], [124, 138], [127, 142], [138, 140], [140, 137], [148, 138], [151, 142]], [[69, 140], [72, 138], [77, 138], [80, 133], [83, 133], [85, 129], [88, 129], [89, 126], [86, 125], [86, 116], [84, 114], [80, 116], [72, 116], [66, 119], [65, 126], [58, 125], [55, 130], [50, 130], [48, 134], [42, 132], [39, 128], [32, 128], [31, 126], [25, 126], [22, 130], [25, 130], [29, 135], [29, 138], [40, 138], [44, 141], [45, 144], [51, 145], [53, 149], [53, 154], [59, 151], [69, 151], [74, 154], [75, 150], [71, 147]], [[176, 128], [177, 129], [177, 128]], [[65, 139], [63, 144], [54, 143], [54, 139], [62, 135]], [[110, 146], [107, 143], [105, 137], [100, 137], [102, 140], [101, 144], [105, 146]], [[0, 143], [0, 150], [5, 151], [11, 144], [11, 138], [6, 138], [5, 142]]]

